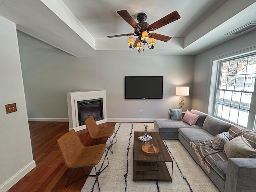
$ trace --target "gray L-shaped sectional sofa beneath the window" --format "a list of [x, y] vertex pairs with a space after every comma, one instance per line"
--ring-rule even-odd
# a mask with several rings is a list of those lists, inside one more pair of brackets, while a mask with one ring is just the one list
[[221, 192], [256, 191], [256, 132], [198, 110], [190, 114], [199, 115], [194, 125], [154, 120], [155, 131], [162, 139], [178, 139]]

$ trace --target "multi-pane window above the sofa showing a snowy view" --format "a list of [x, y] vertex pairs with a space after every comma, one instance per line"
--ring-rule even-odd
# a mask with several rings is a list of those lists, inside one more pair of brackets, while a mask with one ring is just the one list
[[255, 129], [256, 55], [218, 62], [214, 116]]

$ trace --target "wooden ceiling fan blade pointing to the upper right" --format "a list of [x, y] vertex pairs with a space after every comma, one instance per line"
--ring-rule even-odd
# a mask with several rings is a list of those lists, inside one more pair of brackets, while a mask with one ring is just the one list
[[177, 11], [174, 11], [168, 15], [166, 15], [165, 17], [163, 17], [162, 19], [152, 23], [151, 25], [148, 26], [147, 30], [148, 31], [154, 31], [162, 26], [165, 26], [171, 22], [174, 22], [176, 20], [180, 19], [180, 15], [178, 14]]

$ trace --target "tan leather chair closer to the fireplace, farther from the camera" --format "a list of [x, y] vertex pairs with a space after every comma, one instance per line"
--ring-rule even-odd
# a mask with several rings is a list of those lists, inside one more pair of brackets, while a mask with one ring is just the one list
[[[116, 138], [116, 133], [114, 132], [115, 127], [112, 126], [112, 127], [100, 129], [100, 128], [98, 128], [98, 126], [92, 116], [90, 116], [88, 119], [86, 119], [84, 121], [84, 123], [89, 132], [90, 137], [92, 138], [92, 142], [94, 140], [96, 140], [96, 142], [98, 143], [98, 141], [97, 141], [98, 139], [107, 138], [107, 137], [109, 138], [110, 146], [106, 146], [106, 147], [110, 149], [111, 153], [113, 153], [112, 146], [117, 142], [117, 140], [113, 143], [113, 141], [111, 141], [111, 139], [110, 139], [110, 136], [112, 136], [114, 133], [115, 134], [114, 138]], [[91, 143], [91, 145], [92, 145], [92, 143]]]

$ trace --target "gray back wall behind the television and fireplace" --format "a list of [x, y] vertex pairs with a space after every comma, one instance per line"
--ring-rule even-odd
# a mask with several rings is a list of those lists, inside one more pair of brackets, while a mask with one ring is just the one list
[[[25, 34], [19, 34], [20, 43]], [[30, 40], [38, 43], [37, 48], [20, 44], [29, 118], [68, 118], [66, 93], [77, 90], [106, 90], [107, 118], [167, 118], [169, 108], [179, 107], [176, 86], [193, 89], [194, 56], [144, 56], [125, 50], [94, 51], [90, 57], [76, 58]], [[163, 99], [125, 100], [124, 76], [164, 76]], [[191, 109], [191, 94], [185, 96], [186, 109]]]

